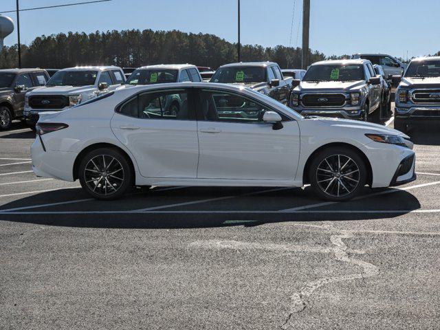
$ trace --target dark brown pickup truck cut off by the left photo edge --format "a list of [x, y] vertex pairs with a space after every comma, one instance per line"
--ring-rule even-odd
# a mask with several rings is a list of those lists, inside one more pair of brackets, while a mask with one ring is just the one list
[[43, 69], [0, 70], [0, 129], [23, 119], [26, 92], [44, 86], [47, 80], [49, 74]]

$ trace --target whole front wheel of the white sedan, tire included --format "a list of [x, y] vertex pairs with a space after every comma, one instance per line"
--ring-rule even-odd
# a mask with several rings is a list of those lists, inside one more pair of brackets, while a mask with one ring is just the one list
[[328, 201], [348, 201], [356, 197], [365, 186], [366, 177], [366, 164], [362, 157], [344, 146], [321, 151], [309, 167], [311, 187], [316, 195]]

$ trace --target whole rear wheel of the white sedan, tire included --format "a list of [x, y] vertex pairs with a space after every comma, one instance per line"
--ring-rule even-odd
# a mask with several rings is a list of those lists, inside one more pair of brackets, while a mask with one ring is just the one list
[[113, 148], [87, 153], [81, 159], [78, 177], [85, 192], [104, 201], [120, 198], [133, 184], [129, 159]]

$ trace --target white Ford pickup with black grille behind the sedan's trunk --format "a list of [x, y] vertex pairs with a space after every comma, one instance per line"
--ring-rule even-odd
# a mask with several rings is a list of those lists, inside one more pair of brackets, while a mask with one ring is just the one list
[[69, 67], [59, 70], [45, 86], [25, 95], [26, 123], [35, 129], [39, 113], [74, 107], [124, 83], [124, 72], [120, 67]]

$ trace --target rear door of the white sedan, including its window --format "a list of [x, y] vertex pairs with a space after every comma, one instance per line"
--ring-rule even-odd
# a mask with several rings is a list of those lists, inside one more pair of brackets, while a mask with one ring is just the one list
[[[179, 102], [179, 111], [170, 107]], [[116, 108], [111, 129], [136, 159], [143, 177], [197, 176], [199, 141], [191, 89], [136, 94]]]

